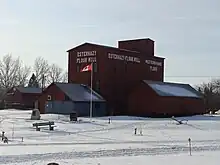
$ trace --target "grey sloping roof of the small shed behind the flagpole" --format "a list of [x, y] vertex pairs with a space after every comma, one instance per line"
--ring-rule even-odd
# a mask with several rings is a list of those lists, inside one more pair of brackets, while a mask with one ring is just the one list
[[[54, 83], [58, 86], [72, 101], [90, 101], [91, 88], [82, 84], [73, 83]], [[102, 96], [92, 91], [92, 100], [101, 102], [105, 101]]]

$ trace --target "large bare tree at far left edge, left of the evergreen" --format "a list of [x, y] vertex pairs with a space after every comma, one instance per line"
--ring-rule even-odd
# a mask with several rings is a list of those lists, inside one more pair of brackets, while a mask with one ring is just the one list
[[30, 68], [24, 66], [19, 58], [5, 55], [0, 61], [0, 87], [8, 89], [17, 85], [25, 85]]

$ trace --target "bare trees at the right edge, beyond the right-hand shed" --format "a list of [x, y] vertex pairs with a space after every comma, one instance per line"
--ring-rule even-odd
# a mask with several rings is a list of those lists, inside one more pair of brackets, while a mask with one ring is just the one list
[[199, 84], [196, 89], [204, 96], [206, 110], [212, 112], [220, 110], [220, 79]]

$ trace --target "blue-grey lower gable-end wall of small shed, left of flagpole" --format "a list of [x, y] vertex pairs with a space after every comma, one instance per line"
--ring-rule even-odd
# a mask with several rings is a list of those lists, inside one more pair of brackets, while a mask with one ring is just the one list
[[74, 103], [71, 101], [47, 101], [45, 113], [70, 114], [74, 111]]

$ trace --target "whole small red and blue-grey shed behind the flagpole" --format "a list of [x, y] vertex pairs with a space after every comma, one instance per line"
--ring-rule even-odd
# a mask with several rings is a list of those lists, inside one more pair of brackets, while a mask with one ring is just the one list
[[89, 116], [92, 93], [93, 116], [106, 115], [106, 101], [86, 85], [74, 83], [52, 83], [38, 99], [41, 113]]

